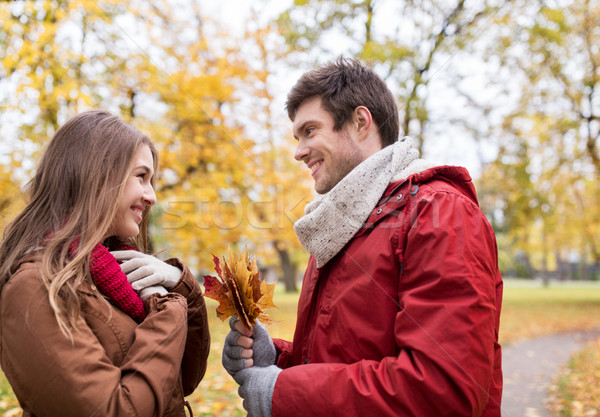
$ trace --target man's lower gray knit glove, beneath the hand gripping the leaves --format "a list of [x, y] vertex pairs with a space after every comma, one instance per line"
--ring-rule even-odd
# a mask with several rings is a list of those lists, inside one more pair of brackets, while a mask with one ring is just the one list
[[273, 390], [281, 371], [275, 365], [252, 366], [235, 375], [235, 381], [240, 384], [238, 394], [244, 399], [242, 404], [249, 417], [272, 417]]

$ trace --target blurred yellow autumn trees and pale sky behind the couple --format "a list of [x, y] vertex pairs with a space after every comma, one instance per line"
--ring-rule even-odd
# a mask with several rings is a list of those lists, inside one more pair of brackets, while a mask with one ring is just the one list
[[469, 167], [503, 273], [598, 278], [596, 1], [219, 4], [0, 3], [0, 227], [56, 128], [105, 107], [160, 149], [156, 249], [206, 271], [248, 245], [294, 291], [313, 194], [283, 102], [346, 55], [388, 82], [425, 158]]

